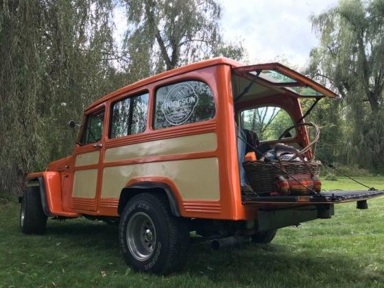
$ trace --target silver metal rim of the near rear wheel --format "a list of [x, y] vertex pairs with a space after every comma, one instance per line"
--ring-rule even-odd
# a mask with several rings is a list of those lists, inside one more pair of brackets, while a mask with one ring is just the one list
[[156, 247], [156, 229], [151, 217], [144, 212], [134, 213], [128, 221], [126, 239], [136, 260], [149, 259]]

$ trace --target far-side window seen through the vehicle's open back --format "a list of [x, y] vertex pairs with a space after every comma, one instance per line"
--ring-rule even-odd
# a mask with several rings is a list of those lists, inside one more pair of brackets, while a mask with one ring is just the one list
[[[256, 132], [260, 141], [277, 140], [278, 137], [293, 125], [291, 116], [283, 108], [264, 106], [241, 112], [241, 128]], [[284, 138], [296, 135], [292, 129]]]

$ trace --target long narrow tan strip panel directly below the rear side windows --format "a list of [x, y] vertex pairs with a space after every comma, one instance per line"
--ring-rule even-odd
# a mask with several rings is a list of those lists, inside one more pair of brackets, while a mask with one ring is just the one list
[[106, 150], [104, 162], [149, 156], [208, 152], [214, 151], [216, 148], [216, 133], [205, 133], [110, 148]]

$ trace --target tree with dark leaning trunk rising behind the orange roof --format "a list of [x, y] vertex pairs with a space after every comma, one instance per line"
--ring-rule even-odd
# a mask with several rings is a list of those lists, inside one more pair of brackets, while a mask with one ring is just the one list
[[221, 40], [216, 0], [126, 0], [125, 48], [143, 77], [211, 56], [243, 56], [241, 45]]

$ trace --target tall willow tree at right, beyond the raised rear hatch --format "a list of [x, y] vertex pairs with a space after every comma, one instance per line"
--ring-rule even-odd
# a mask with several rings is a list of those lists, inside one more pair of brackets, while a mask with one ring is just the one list
[[348, 162], [384, 169], [384, 1], [340, 1], [311, 18], [320, 47], [309, 71], [341, 95]]

